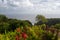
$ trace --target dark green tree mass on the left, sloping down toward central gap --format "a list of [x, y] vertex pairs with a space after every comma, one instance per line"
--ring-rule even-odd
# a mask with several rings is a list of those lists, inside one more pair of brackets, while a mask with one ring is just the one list
[[0, 33], [14, 31], [19, 26], [32, 26], [32, 24], [28, 20], [17, 20], [0, 15]]

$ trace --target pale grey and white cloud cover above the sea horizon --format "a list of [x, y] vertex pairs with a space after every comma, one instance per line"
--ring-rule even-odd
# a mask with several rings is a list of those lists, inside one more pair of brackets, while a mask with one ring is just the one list
[[5, 9], [4, 13], [60, 13], [60, 0], [0, 0], [0, 5], [0, 11]]

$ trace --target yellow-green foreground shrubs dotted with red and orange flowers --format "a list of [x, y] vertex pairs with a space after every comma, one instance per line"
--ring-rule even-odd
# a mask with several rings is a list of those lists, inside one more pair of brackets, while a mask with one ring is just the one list
[[[54, 40], [56, 33], [43, 30], [41, 26], [18, 27], [14, 32], [0, 34], [1, 40]], [[3, 38], [3, 39], [2, 39]]]

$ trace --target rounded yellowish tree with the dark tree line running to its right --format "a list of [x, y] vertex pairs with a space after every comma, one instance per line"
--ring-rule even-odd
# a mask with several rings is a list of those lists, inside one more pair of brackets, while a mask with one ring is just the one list
[[43, 15], [36, 16], [36, 23], [35, 25], [42, 25], [46, 24], [48, 26], [60, 24], [60, 18], [45, 18]]

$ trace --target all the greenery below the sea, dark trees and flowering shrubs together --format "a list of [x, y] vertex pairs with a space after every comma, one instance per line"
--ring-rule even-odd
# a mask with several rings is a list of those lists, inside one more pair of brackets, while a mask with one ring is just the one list
[[0, 15], [0, 40], [60, 40], [60, 18], [36, 16], [36, 23]]

